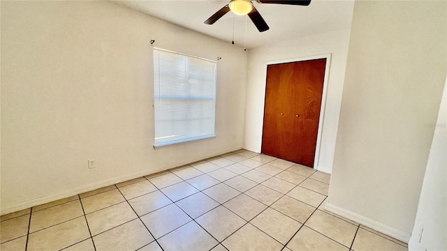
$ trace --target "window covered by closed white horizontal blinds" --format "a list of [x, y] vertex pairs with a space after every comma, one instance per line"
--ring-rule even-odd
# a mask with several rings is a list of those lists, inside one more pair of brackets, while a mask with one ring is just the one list
[[154, 146], [214, 137], [215, 107], [215, 61], [154, 49]]

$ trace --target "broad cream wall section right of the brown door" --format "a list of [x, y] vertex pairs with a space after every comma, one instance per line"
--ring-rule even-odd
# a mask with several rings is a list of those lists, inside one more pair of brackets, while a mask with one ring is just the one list
[[356, 1], [327, 208], [409, 241], [446, 79], [446, 1]]

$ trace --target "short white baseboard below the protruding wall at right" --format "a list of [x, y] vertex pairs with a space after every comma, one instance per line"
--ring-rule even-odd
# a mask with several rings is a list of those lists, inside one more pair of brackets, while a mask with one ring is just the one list
[[369, 227], [370, 229], [379, 231], [382, 234], [386, 234], [387, 236], [393, 237], [399, 241], [403, 241], [404, 243], [408, 243], [410, 240], [411, 234], [409, 233], [394, 229], [393, 227], [389, 227], [387, 225], [383, 225], [380, 222], [376, 222], [375, 220], [371, 220], [369, 218], [366, 218], [365, 216], [358, 215], [357, 213], [353, 213], [344, 208], [340, 208], [339, 206], [335, 206], [326, 202], [324, 208], [327, 211], [336, 213], [337, 215], [343, 216], [344, 218], [347, 218], [349, 220], [353, 220], [361, 225], [364, 225], [365, 227]]

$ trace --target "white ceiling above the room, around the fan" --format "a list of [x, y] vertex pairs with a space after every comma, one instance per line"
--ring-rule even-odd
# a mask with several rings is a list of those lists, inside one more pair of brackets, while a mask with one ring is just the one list
[[[228, 43], [231, 43], [233, 39], [234, 19], [235, 44], [244, 47], [245, 16], [237, 16], [229, 12], [212, 25], [203, 23], [217, 10], [225, 6], [229, 0], [140, 0], [115, 2], [187, 29], [228, 41]], [[312, 0], [309, 6], [253, 2], [265, 22], [270, 26], [270, 29], [260, 33], [248, 18], [247, 48], [249, 49], [284, 40], [349, 29], [351, 26], [352, 0]]]

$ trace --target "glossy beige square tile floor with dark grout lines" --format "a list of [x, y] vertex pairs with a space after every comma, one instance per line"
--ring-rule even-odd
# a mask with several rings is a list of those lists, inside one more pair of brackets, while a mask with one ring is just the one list
[[3, 215], [0, 250], [408, 250], [325, 211], [329, 181], [235, 151]]

